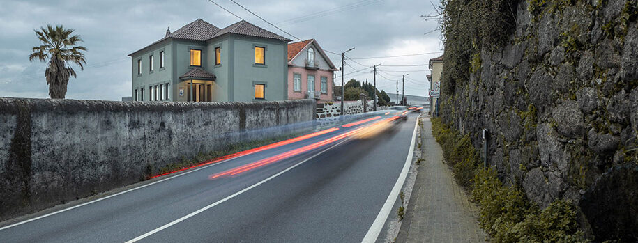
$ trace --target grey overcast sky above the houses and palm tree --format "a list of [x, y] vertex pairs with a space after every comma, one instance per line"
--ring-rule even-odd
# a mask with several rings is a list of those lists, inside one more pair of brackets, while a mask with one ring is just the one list
[[[252, 24], [297, 41], [229, 0], [213, 1]], [[425, 75], [430, 74], [430, 70], [425, 64], [443, 50], [440, 32], [433, 31], [436, 21], [426, 22], [420, 17], [435, 13], [430, 1], [236, 1], [298, 38], [316, 39], [325, 50], [340, 53], [356, 47], [347, 53], [354, 61], [347, 61], [346, 74], [381, 63], [379, 70], [383, 72], [377, 75], [379, 90], [395, 93], [395, 81], [409, 73], [405, 93], [427, 95], [430, 85]], [[63, 24], [73, 28], [89, 49], [84, 71], [73, 66], [77, 79], [69, 80], [67, 98], [121, 100], [131, 93], [131, 61], [127, 55], [165, 36], [167, 27], [174, 31], [198, 18], [220, 28], [240, 20], [208, 0], [2, 0], [0, 96], [48, 97], [44, 77], [47, 63], [29, 62], [31, 48], [40, 45], [33, 29], [40, 26]], [[357, 59], [422, 53], [434, 54]], [[341, 65], [340, 56], [328, 56], [337, 67]], [[383, 66], [419, 64], [422, 65]], [[335, 79], [337, 83], [340, 82], [338, 75], [340, 73]], [[351, 78], [372, 81], [372, 68], [345, 76], [346, 80]]]

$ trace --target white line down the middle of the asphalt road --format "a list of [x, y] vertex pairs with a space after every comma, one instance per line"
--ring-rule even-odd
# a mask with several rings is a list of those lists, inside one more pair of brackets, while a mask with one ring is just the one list
[[212, 203], [212, 204], [210, 204], [210, 205], [208, 205], [208, 206], [206, 206], [206, 207], [202, 207], [201, 209], [199, 209], [199, 210], [197, 210], [197, 211], [195, 211], [195, 212], [191, 212], [190, 214], [188, 214], [188, 215], [186, 215], [186, 216], [184, 216], [184, 217], [181, 217], [181, 218], [179, 218], [179, 219], [175, 219], [174, 221], [172, 221], [172, 222], [170, 222], [170, 223], [168, 223], [168, 224], [165, 224], [165, 225], [163, 225], [163, 226], [160, 226], [160, 228], [155, 228], [154, 230], [151, 230], [151, 231], [149, 231], [148, 233], [145, 233], [144, 235], [139, 235], [138, 237], [135, 237], [134, 239], [129, 240], [129, 241], [128, 241], [128, 242], [126, 242], [126, 243], [132, 243], [132, 242], [137, 242], [137, 241], [139, 241], [139, 240], [142, 240], [142, 239], [144, 239], [144, 238], [146, 238], [146, 237], [149, 237], [149, 235], [153, 235], [153, 234], [155, 234], [155, 233], [158, 233], [158, 232], [160, 232], [161, 230], [164, 230], [165, 228], [169, 228], [170, 226], [174, 226], [175, 224], [178, 224], [178, 223], [179, 223], [179, 222], [181, 222], [181, 221], [184, 221], [184, 220], [186, 220], [186, 219], [188, 219], [188, 218], [190, 218], [190, 217], [193, 217], [193, 216], [195, 216], [195, 215], [197, 215], [197, 214], [199, 214], [199, 213], [201, 213], [201, 212], [204, 212], [204, 211], [206, 211], [206, 210], [210, 209], [211, 207], [215, 207], [216, 205], [219, 205], [220, 203], [223, 203], [223, 202], [225, 202], [225, 201], [228, 201], [228, 200], [230, 200], [231, 198], [234, 198], [234, 197], [236, 197], [236, 196], [239, 196], [240, 194], [243, 194], [244, 192], [246, 192], [246, 191], [248, 191], [248, 190], [250, 190], [250, 189], [253, 189], [253, 188], [255, 188], [255, 187], [257, 187], [257, 186], [259, 186], [259, 185], [261, 185], [261, 184], [264, 184], [264, 183], [265, 183], [265, 182], [267, 182], [268, 180], [272, 180], [273, 178], [276, 178], [276, 177], [278, 177], [279, 175], [281, 175], [281, 174], [283, 174], [283, 173], [286, 173], [287, 171], [290, 171], [291, 169], [293, 169], [293, 168], [295, 168], [295, 167], [297, 167], [297, 166], [299, 166], [299, 165], [301, 165], [301, 164], [303, 164], [303, 163], [307, 162], [307, 161], [308, 161], [308, 160], [310, 160], [310, 159], [314, 159], [314, 157], [317, 157], [317, 156], [319, 156], [319, 155], [323, 154], [324, 152], [326, 152], [326, 151], [328, 151], [328, 150], [331, 150], [331, 148], [335, 148], [336, 146], [339, 146], [341, 143], [344, 143], [345, 141], [348, 141], [348, 140], [349, 140], [349, 139], [348, 139], [348, 138], [346, 138], [346, 139], [344, 139], [343, 141], [340, 141], [339, 143], [337, 143], [337, 144], [335, 144], [335, 145], [333, 145], [333, 146], [330, 146], [329, 148], [326, 148], [326, 149], [324, 149], [324, 150], [321, 150], [321, 152], [318, 152], [316, 155], [312, 155], [311, 157], [309, 157], [309, 158], [307, 158], [307, 159], [304, 159], [303, 161], [301, 161], [301, 162], [299, 162], [299, 163], [297, 163], [297, 164], [294, 164], [293, 166], [290, 166], [290, 167], [286, 168], [285, 170], [280, 171], [279, 173], [276, 173], [275, 175], [271, 175], [271, 177], [268, 177], [268, 178], [266, 178], [266, 179], [264, 179], [264, 180], [261, 180], [260, 182], [255, 183], [255, 185], [252, 185], [252, 186], [250, 186], [250, 187], [246, 187], [245, 189], [242, 189], [241, 191], [237, 191], [235, 194], [232, 194], [232, 195], [230, 195], [230, 196], [227, 196], [227, 197], [223, 198], [222, 200], [220, 200], [220, 201], [216, 201], [215, 203]]

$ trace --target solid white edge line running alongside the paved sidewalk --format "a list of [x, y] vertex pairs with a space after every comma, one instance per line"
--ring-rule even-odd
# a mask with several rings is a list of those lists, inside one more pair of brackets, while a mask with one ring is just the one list
[[[420, 117], [420, 116], [418, 116]], [[390, 191], [390, 195], [388, 195], [388, 199], [386, 199], [386, 203], [383, 203], [383, 207], [381, 207], [381, 211], [377, 214], [377, 218], [372, 222], [372, 226], [367, 230], [365, 237], [361, 242], [376, 242], [377, 237], [381, 233], [383, 229], [383, 225], [386, 224], [386, 220], [388, 216], [390, 216], [390, 212], [392, 211], [392, 207], [399, 196], [399, 192], [401, 191], [401, 187], [403, 187], [403, 183], [405, 182], [405, 178], [407, 178], [408, 171], [410, 169], [410, 164], [412, 164], [412, 155], [414, 152], [414, 141], [416, 141], [416, 130], [418, 128], [418, 118], [416, 119], [416, 124], [414, 125], [414, 132], [412, 133], [412, 142], [410, 143], [410, 150], [408, 151], [408, 157], [405, 159], [405, 164], [403, 165], [403, 170], [401, 171], [395, 186]]]

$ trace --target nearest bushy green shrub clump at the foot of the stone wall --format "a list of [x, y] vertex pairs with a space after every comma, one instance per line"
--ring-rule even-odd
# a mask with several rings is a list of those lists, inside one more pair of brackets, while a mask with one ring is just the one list
[[538, 210], [522, 191], [504, 187], [492, 169], [476, 174], [472, 200], [480, 206], [481, 228], [495, 242], [584, 242], [570, 201], [554, 201]]

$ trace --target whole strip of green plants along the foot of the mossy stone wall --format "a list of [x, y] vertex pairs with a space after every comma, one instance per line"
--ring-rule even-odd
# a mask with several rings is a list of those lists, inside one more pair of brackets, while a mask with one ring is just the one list
[[432, 119], [432, 130], [455, 180], [480, 206], [479, 224], [494, 242], [586, 242], [572, 202], [559, 200], [540, 210], [522, 189], [503, 185], [494, 169], [480, 166], [469, 136], [439, 118]]

